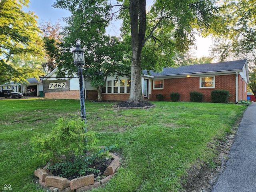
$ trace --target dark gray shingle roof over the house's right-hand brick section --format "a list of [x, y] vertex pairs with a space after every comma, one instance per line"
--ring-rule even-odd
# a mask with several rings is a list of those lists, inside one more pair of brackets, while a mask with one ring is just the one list
[[[210, 64], [196, 64], [188, 66], [180, 66], [178, 68], [163, 68], [162, 72], [150, 71], [151, 76], [168, 76], [168, 75], [182, 75], [182, 74], [196, 74], [207, 72], [225, 72], [242, 70], [246, 64], [246, 59], [238, 61], [227, 61]], [[147, 74], [147, 70], [142, 71]]]

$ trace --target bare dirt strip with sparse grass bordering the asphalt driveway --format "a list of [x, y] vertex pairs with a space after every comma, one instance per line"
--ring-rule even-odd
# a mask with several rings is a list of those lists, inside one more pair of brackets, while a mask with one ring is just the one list
[[182, 186], [186, 192], [210, 192], [212, 186], [225, 169], [230, 146], [234, 142], [234, 136], [241, 119], [236, 122], [236, 125], [232, 128], [232, 133], [227, 134], [224, 140], [216, 139], [214, 143], [208, 144], [208, 147], [214, 148], [218, 154], [213, 162], [195, 165], [187, 171], [188, 176], [182, 179], [186, 181]]

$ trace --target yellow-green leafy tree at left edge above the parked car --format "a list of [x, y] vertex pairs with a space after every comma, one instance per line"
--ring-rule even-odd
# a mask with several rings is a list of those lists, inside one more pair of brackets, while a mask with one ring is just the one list
[[[28, 0], [0, 1], [0, 82], [23, 82], [38, 77], [37, 65], [26, 64], [31, 57], [42, 57], [42, 39], [33, 12], [22, 11]], [[32, 64], [33, 62], [30, 62]]]

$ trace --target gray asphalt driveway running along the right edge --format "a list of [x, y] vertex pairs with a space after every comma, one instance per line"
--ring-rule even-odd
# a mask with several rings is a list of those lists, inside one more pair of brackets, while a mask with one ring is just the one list
[[226, 168], [211, 192], [256, 192], [256, 102], [244, 112]]

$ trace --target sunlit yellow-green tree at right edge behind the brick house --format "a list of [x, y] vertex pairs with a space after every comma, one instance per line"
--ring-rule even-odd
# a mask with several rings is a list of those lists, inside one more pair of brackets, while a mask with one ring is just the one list
[[219, 14], [212, 53], [220, 61], [246, 58], [250, 70], [248, 86], [256, 95], [256, 2], [225, 0]]

